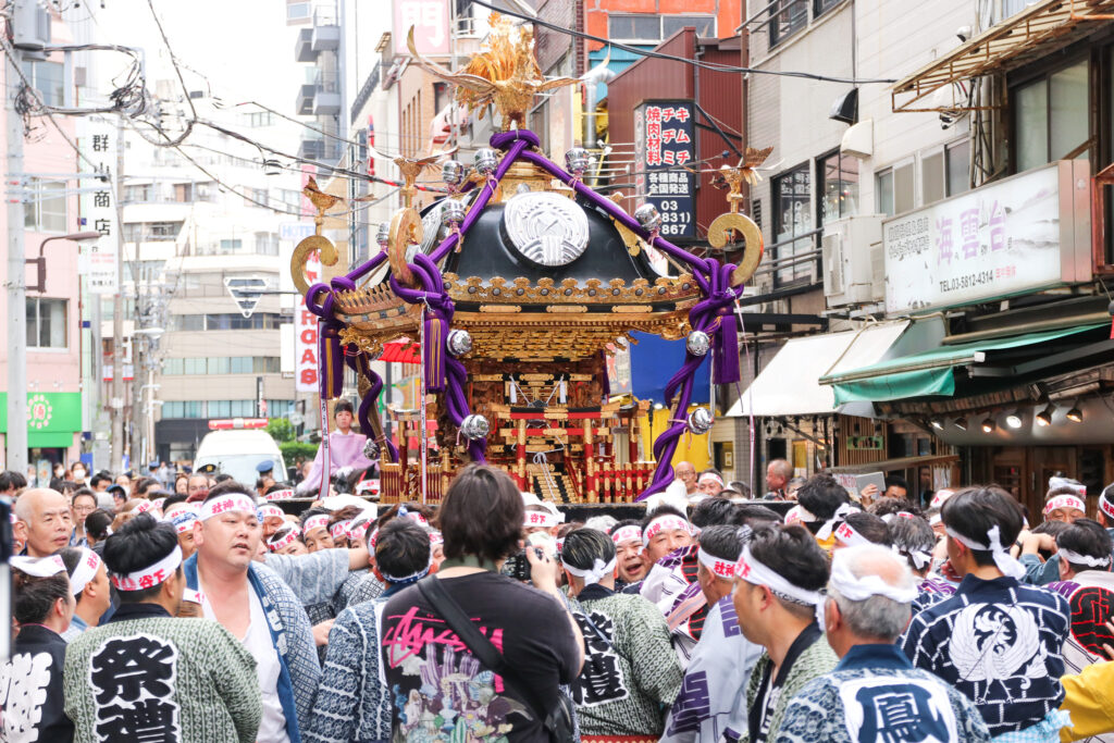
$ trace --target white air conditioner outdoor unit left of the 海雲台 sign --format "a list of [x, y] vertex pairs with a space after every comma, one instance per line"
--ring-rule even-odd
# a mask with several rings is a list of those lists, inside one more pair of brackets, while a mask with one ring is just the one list
[[829, 307], [882, 299], [882, 215], [844, 217], [824, 225], [824, 297]]

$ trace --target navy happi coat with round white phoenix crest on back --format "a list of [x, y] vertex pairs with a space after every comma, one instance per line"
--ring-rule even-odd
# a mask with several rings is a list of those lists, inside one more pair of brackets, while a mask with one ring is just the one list
[[918, 668], [973, 700], [991, 735], [1039, 724], [1059, 707], [1067, 600], [1006, 576], [968, 575], [951, 598], [913, 616], [900, 641]]

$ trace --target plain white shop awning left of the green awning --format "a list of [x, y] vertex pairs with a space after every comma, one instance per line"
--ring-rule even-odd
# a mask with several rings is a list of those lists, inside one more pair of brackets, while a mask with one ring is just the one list
[[879, 323], [857, 331], [792, 339], [743, 391], [726, 416], [836, 412], [836, 395], [830, 387], [820, 384], [820, 378], [878, 362], [908, 326], [907, 321]]

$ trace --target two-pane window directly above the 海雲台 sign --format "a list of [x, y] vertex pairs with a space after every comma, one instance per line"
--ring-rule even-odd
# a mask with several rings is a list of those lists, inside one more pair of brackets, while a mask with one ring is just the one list
[[1067, 156], [1085, 157], [1091, 96], [1086, 60], [1013, 91], [1017, 172]]

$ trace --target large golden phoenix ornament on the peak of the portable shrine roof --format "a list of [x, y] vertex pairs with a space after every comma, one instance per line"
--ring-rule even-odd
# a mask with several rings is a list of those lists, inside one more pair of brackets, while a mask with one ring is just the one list
[[502, 118], [504, 130], [526, 126], [526, 113], [536, 94], [579, 82], [569, 77], [547, 80], [534, 59], [534, 32], [525, 27], [516, 29], [509, 18], [499, 13], [491, 13], [487, 49], [459, 72], [418, 53], [412, 26], [407, 35], [407, 46], [419, 67], [457, 86], [457, 100], [469, 111], [480, 109], [479, 118], [483, 118], [483, 109], [495, 105]]

